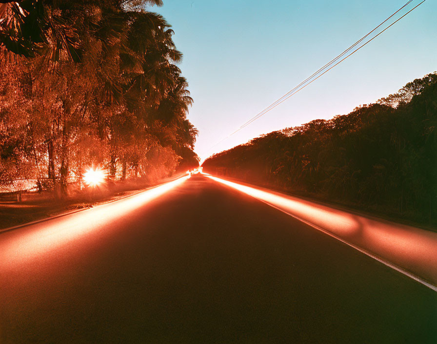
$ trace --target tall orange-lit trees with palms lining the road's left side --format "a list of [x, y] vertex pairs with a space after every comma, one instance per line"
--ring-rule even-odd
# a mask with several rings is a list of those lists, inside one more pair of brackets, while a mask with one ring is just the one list
[[[86, 167], [110, 179], [198, 166], [193, 100], [160, 0], [0, 3], [0, 184], [66, 194]], [[21, 185], [21, 184], [20, 184]]]

